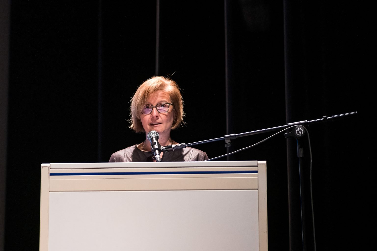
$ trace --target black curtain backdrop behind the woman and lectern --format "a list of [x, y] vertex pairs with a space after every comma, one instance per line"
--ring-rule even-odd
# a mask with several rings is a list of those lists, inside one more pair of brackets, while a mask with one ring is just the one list
[[[107, 162], [143, 141], [128, 128], [129, 100], [153, 75], [171, 76], [182, 88], [187, 125], [172, 132], [179, 143], [359, 109], [367, 49], [364, 16], [351, 3], [11, 1], [10, 7], [5, 250], [38, 250], [42, 163]], [[367, 226], [362, 191], [369, 183], [358, 169], [369, 156], [359, 151], [358, 117], [360, 111], [307, 127], [317, 250], [366, 243], [359, 230]], [[273, 133], [237, 138], [228, 150], [223, 141], [196, 148], [212, 158]], [[307, 138], [302, 146], [304, 246], [314, 250]], [[296, 141], [278, 134], [218, 160], [267, 161], [269, 250], [302, 250]]]

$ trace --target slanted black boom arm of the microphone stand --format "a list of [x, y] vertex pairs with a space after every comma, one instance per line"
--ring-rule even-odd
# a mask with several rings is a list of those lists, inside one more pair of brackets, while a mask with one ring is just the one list
[[199, 145], [199, 144], [204, 144], [204, 143], [209, 143], [209, 142], [214, 142], [214, 141], [219, 141], [219, 140], [225, 140], [225, 147], [229, 147], [231, 145], [231, 140], [238, 138], [238, 137], [245, 137], [245, 136], [260, 134], [260, 133], [264, 133], [264, 132], [278, 131], [278, 130], [282, 130], [284, 128], [288, 128], [288, 127], [294, 126], [294, 125], [303, 125], [304, 126], [304, 125], [308, 125], [308, 124], [311, 124], [311, 123], [327, 122], [327, 120], [334, 121], [334, 120], [342, 119], [344, 117], [347, 117], [347, 116], [350, 116], [350, 115], [356, 114], [356, 113], [357, 113], [357, 111], [352, 112], [352, 113], [344, 113], [344, 114], [334, 115], [334, 116], [331, 116], [331, 117], [323, 116], [322, 119], [315, 119], [315, 120], [309, 120], [309, 121], [303, 120], [303, 121], [299, 121], [299, 122], [289, 123], [289, 124], [284, 125], [284, 126], [276, 126], [276, 127], [271, 127], [271, 128], [257, 130], [257, 131], [243, 132], [243, 133], [239, 133], [239, 134], [229, 134], [229, 135], [225, 135], [224, 137], [213, 138], [213, 139], [210, 139], [210, 140], [202, 140], [202, 141], [197, 141], [197, 142], [187, 143], [187, 144], [181, 143], [181, 144], [175, 144], [175, 145], [168, 145], [168, 146], [163, 146], [161, 150], [162, 150], [162, 152], [170, 152], [170, 151], [174, 151], [174, 150], [177, 150], [177, 149], [185, 148], [186, 146], [194, 146], [194, 145]]

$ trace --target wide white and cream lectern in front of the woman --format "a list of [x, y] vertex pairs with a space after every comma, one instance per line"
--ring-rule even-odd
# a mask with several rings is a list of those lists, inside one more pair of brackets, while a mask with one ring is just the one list
[[267, 251], [265, 161], [41, 165], [40, 251]]

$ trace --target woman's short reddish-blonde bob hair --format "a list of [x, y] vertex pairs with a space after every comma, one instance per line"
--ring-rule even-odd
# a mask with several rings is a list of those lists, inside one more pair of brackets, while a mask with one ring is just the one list
[[129, 122], [131, 123], [130, 128], [133, 131], [145, 132], [143, 124], [140, 120], [141, 110], [143, 110], [143, 107], [146, 104], [146, 100], [157, 91], [165, 91], [166, 93], [168, 93], [171, 99], [169, 101], [173, 103], [173, 105], [170, 106], [173, 108], [173, 111], [175, 113], [172, 129], [176, 129], [184, 123], [183, 99], [177, 83], [170, 78], [163, 76], [154, 76], [144, 81], [143, 84], [138, 87], [131, 99], [131, 118]]

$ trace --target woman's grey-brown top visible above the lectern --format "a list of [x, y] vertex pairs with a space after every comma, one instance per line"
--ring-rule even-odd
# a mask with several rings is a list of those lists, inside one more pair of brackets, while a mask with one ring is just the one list
[[[153, 161], [152, 152], [144, 152], [134, 146], [114, 152], [109, 162], [150, 162]], [[161, 161], [203, 161], [208, 160], [205, 152], [195, 148], [186, 147], [172, 152], [164, 152]]]

